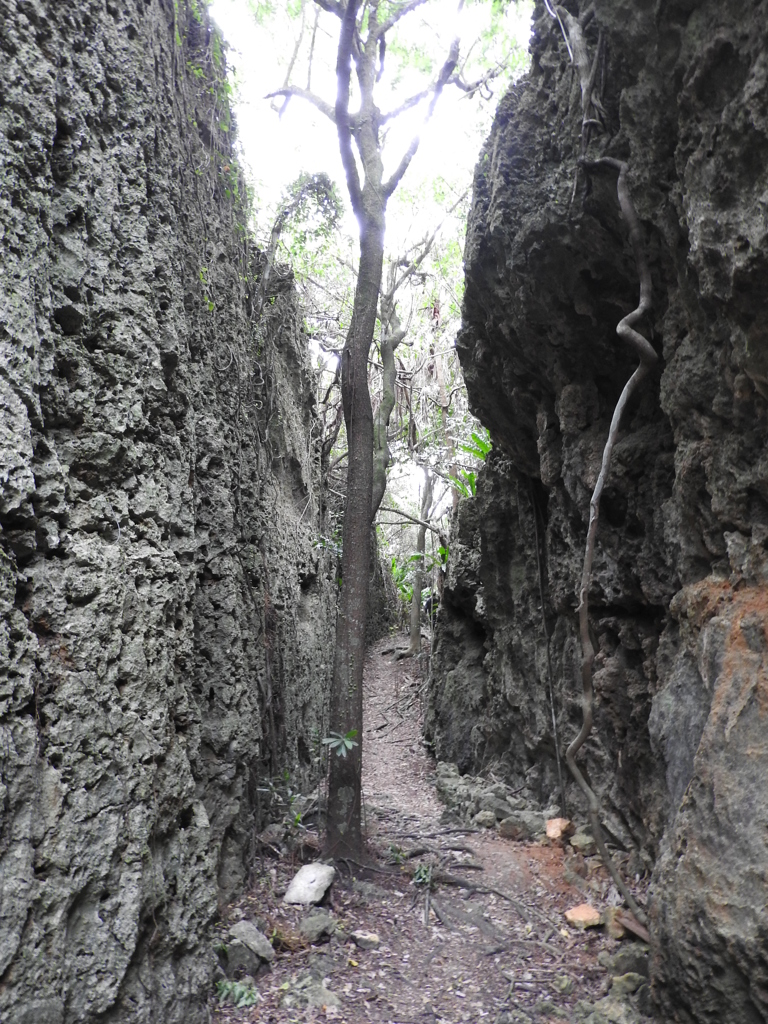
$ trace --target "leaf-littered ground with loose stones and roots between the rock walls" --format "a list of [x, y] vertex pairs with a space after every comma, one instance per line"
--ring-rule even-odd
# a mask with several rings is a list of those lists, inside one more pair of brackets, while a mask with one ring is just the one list
[[[324, 905], [289, 906], [282, 897], [299, 855], [311, 855], [316, 840], [311, 830], [302, 839], [290, 822], [268, 829], [253, 887], [222, 915], [214, 1020], [645, 1019], [644, 944], [565, 920], [579, 904], [604, 911], [616, 902], [604, 868], [567, 843], [514, 841], [482, 827], [493, 825], [493, 799], [498, 813], [509, 810], [493, 778], [484, 780], [485, 797], [475, 798], [488, 806], [474, 811], [472, 821], [440, 803], [436, 781], [449, 797], [463, 785], [458, 804], [466, 806], [482, 780], [462, 783], [451, 766], [435, 771], [421, 740], [419, 669], [393, 664], [392, 652], [392, 641], [377, 644], [366, 673], [364, 784], [374, 866], [341, 864]], [[536, 815], [527, 814], [535, 833]], [[254, 926], [271, 949], [253, 940]]]

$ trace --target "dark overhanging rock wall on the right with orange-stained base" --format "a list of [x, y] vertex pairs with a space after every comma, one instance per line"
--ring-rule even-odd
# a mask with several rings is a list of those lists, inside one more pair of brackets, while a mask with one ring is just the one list
[[[768, 1020], [768, 5], [565, 6], [593, 9], [607, 131], [588, 154], [629, 163], [653, 283], [641, 329], [659, 354], [603, 497], [580, 760], [611, 831], [657, 858], [664, 1019], [754, 1024]], [[615, 336], [639, 294], [615, 172], [581, 170], [574, 190], [581, 122], [538, 3], [530, 74], [475, 177], [459, 351], [495, 452], [456, 523], [428, 731], [440, 759], [500, 760], [542, 804], [557, 786], [547, 650], [562, 749], [581, 725], [589, 499], [637, 365]]]

